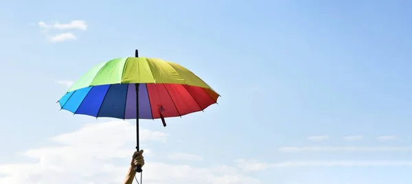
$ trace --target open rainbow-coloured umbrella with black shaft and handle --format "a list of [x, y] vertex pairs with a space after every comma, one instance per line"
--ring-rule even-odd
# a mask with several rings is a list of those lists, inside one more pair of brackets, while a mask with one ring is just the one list
[[[117, 58], [96, 65], [58, 103], [73, 114], [136, 119], [179, 117], [203, 111], [220, 95], [192, 71], [157, 58]], [[141, 172], [141, 167], [135, 168]]]

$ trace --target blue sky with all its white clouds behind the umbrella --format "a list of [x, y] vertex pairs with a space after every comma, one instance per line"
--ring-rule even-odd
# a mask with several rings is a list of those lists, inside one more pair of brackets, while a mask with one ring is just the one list
[[[222, 97], [141, 122], [144, 183], [411, 183], [411, 1], [0, 1], [0, 183], [120, 183], [135, 122], [59, 111], [113, 58]], [[409, 61], [408, 61], [409, 60]]]

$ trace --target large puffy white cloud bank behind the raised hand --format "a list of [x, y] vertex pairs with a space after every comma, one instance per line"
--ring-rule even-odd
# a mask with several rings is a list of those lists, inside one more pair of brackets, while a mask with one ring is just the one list
[[[165, 141], [168, 135], [141, 129], [141, 141]], [[52, 137], [57, 146], [33, 148], [25, 161], [0, 163], [0, 183], [114, 184], [123, 181], [135, 144], [135, 126], [125, 121], [87, 124], [80, 130]], [[145, 149], [147, 150], [147, 149]], [[259, 184], [236, 167], [193, 167], [152, 161], [145, 152], [144, 183]], [[149, 155], [149, 157], [147, 157]]]

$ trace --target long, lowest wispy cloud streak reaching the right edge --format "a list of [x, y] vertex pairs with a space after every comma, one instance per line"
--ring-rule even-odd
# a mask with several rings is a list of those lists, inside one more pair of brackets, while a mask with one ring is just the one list
[[[412, 161], [286, 161], [279, 163], [260, 163], [258, 161], [236, 160], [238, 167], [245, 171], [259, 171], [269, 168], [301, 167], [412, 167]], [[245, 167], [247, 165], [247, 167]]]

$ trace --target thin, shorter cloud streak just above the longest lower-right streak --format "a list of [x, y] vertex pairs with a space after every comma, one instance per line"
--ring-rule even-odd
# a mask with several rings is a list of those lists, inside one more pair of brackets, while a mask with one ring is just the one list
[[281, 152], [412, 152], [412, 147], [391, 146], [322, 146], [322, 147], [282, 147]]

